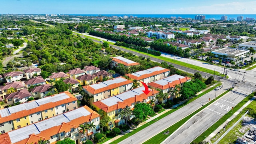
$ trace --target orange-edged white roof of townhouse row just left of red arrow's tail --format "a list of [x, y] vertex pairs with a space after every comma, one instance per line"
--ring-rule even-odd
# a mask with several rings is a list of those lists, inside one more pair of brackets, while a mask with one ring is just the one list
[[[112, 80], [107, 80], [105, 82], [99, 82], [97, 84], [83, 86], [83, 88], [88, 92], [90, 92], [91, 94], [98, 94], [100, 92], [111, 90], [113, 88], [118, 88], [119, 86], [131, 84], [131, 83], [132, 81], [127, 80], [124, 77], [120, 76], [117, 78], [113, 78]], [[100, 86], [100, 88], [98, 88], [98, 86]]]

